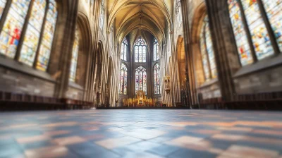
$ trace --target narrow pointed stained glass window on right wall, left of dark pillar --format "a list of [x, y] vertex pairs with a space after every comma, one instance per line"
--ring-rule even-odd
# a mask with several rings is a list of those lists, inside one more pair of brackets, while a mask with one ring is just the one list
[[206, 80], [216, 78], [216, 62], [214, 59], [211, 32], [209, 30], [209, 19], [207, 16], [204, 16], [200, 32], [200, 49], [202, 55], [202, 65], [204, 68], [204, 78]]

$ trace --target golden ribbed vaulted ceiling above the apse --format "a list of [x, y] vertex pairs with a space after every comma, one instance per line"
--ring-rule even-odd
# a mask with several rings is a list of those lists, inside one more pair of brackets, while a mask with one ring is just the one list
[[171, 0], [108, 0], [108, 27], [116, 26], [116, 42], [130, 32], [147, 31], [159, 42], [171, 30]]

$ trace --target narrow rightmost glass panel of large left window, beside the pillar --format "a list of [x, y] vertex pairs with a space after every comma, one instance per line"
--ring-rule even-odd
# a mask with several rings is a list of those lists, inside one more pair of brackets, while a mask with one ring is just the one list
[[56, 10], [56, 2], [54, 0], [49, 0], [49, 8], [44, 25], [42, 43], [39, 48], [39, 56], [36, 66], [36, 68], [41, 71], [46, 71], [49, 63], [57, 16], [58, 12]]

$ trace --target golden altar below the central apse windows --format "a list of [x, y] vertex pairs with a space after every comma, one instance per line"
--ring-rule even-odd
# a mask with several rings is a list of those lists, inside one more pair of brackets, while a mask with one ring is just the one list
[[123, 99], [124, 107], [154, 107], [157, 99], [147, 98], [146, 93], [138, 91], [134, 98]]

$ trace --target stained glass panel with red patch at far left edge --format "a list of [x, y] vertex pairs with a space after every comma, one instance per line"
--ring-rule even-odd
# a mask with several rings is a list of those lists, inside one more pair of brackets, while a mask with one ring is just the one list
[[25, 16], [31, 0], [14, 0], [8, 11], [4, 27], [0, 35], [0, 52], [5, 56], [14, 58], [20, 40], [20, 35], [25, 23]]

